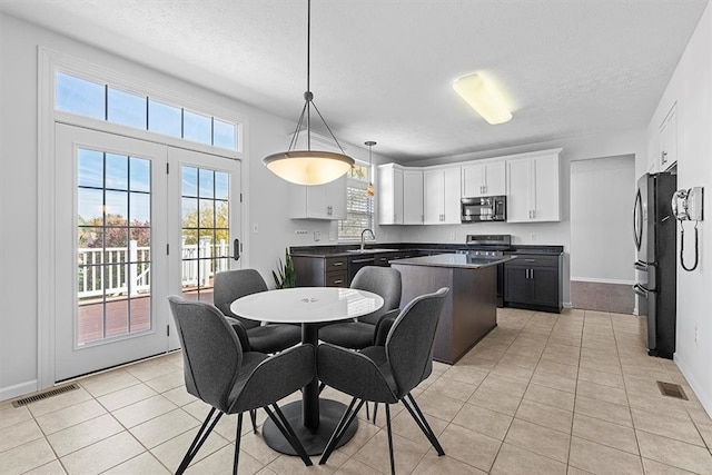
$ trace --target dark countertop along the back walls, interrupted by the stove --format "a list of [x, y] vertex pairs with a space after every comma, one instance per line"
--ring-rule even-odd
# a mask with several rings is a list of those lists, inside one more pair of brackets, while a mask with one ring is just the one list
[[[293, 246], [290, 254], [293, 257], [348, 257], [368, 254], [400, 253], [405, 250], [425, 250], [457, 253], [466, 251], [466, 244], [438, 244], [438, 243], [386, 243], [369, 244], [364, 253], [354, 253], [359, 246], [357, 244], [329, 245], [329, 246]], [[505, 254], [547, 254], [560, 255], [564, 251], [563, 246], [540, 246], [540, 245], [512, 245], [512, 249]]]

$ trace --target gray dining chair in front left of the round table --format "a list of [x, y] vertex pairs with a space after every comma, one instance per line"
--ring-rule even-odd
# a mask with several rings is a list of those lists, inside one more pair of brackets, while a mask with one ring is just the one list
[[176, 473], [182, 474], [188, 468], [224, 414], [237, 414], [233, 463], [233, 473], [237, 474], [243, 413], [257, 408], [265, 409], [304, 464], [312, 465], [277, 400], [314, 378], [314, 346], [298, 345], [271, 356], [245, 352], [219, 309], [177, 296], [168, 300], [182, 346], [186, 389], [211, 406]]

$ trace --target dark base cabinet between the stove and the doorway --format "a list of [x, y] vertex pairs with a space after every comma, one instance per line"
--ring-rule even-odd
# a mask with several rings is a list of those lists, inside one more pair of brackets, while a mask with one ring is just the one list
[[561, 255], [516, 255], [504, 264], [505, 305], [560, 313], [561, 267]]

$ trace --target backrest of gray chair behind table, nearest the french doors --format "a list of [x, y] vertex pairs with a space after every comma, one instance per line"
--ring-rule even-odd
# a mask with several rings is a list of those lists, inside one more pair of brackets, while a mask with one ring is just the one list
[[222, 314], [239, 319], [245, 328], [253, 328], [260, 323], [233, 314], [230, 304], [246, 295], [265, 290], [267, 290], [267, 284], [255, 269], [224, 270], [215, 275], [212, 301]]

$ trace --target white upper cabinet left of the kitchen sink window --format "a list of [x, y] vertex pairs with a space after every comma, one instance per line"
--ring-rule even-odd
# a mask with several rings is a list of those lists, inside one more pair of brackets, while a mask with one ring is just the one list
[[291, 219], [346, 219], [346, 176], [326, 185], [289, 185]]

